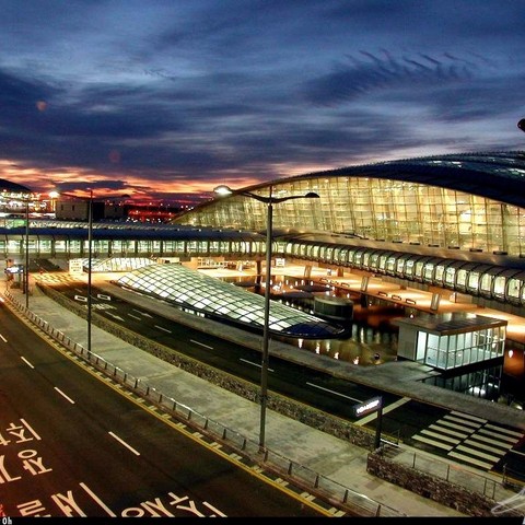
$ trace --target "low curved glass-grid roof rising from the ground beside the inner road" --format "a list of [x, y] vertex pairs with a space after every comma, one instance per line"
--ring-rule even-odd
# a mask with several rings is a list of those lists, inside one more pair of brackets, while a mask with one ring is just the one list
[[[117, 284], [162, 299], [179, 307], [200, 312], [215, 320], [261, 330], [264, 298], [178, 264], [138, 268]], [[304, 312], [270, 301], [270, 332], [283, 337], [327, 339], [342, 336], [345, 328]]]

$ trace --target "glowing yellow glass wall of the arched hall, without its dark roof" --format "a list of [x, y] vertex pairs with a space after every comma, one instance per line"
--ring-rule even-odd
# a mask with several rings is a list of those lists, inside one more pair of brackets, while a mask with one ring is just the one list
[[[436, 161], [439, 162], [439, 161]], [[446, 170], [446, 163], [443, 162]], [[268, 197], [269, 187], [255, 190]], [[462, 250], [504, 250], [518, 256], [524, 249], [525, 210], [478, 195], [412, 180], [349, 176], [305, 175], [273, 185], [276, 196], [316, 191], [320, 199], [292, 199], [273, 209], [276, 229], [298, 224], [311, 231], [354, 234], [386, 242], [454, 247]], [[195, 226], [266, 228], [266, 205], [231, 196], [211, 201], [177, 218]]]

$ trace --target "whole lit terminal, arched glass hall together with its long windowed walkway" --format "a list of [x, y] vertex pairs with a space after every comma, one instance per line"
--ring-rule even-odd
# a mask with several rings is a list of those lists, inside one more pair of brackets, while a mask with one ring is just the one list
[[[285, 177], [210, 199], [165, 225], [93, 224], [93, 257], [276, 258], [465, 294], [525, 317], [525, 152], [452, 154]], [[21, 186], [3, 182], [3, 200]], [[319, 198], [294, 198], [315, 192]], [[33, 201], [33, 197], [32, 200]], [[23, 202], [23, 200], [22, 200]], [[2, 228], [3, 225], [3, 228]], [[85, 258], [88, 224], [0, 222], [5, 260]]]

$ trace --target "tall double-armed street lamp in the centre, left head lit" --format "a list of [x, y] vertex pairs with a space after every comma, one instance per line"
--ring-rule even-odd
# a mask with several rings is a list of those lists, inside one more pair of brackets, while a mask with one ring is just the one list
[[220, 196], [226, 195], [242, 195], [250, 197], [252, 199], [264, 202], [267, 206], [266, 219], [266, 277], [265, 277], [265, 320], [262, 327], [262, 359], [260, 369], [260, 430], [259, 430], [259, 450], [265, 450], [265, 433], [266, 433], [266, 408], [268, 405], [268, 361], [269, 361], [269, 342], [270, 342], [270, 281], [271, 281], [271, 235], [273, 222], [273, 205], [284, 202], [291, 199], [318, 199], [319, 196], [313, 191], [306, 195], [291, 195], [288, 197], [273, 197], [273, 187], [269, 186], [268, 197], [252, 194], [250, 191], [234, 191], [225, 185], [217, 186], [213, 191]]

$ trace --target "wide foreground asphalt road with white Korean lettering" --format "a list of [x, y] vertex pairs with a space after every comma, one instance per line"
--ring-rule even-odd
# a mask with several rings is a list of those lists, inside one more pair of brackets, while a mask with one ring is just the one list
[[8, 516], [325, 515], [74, 361], [0, 307]]

